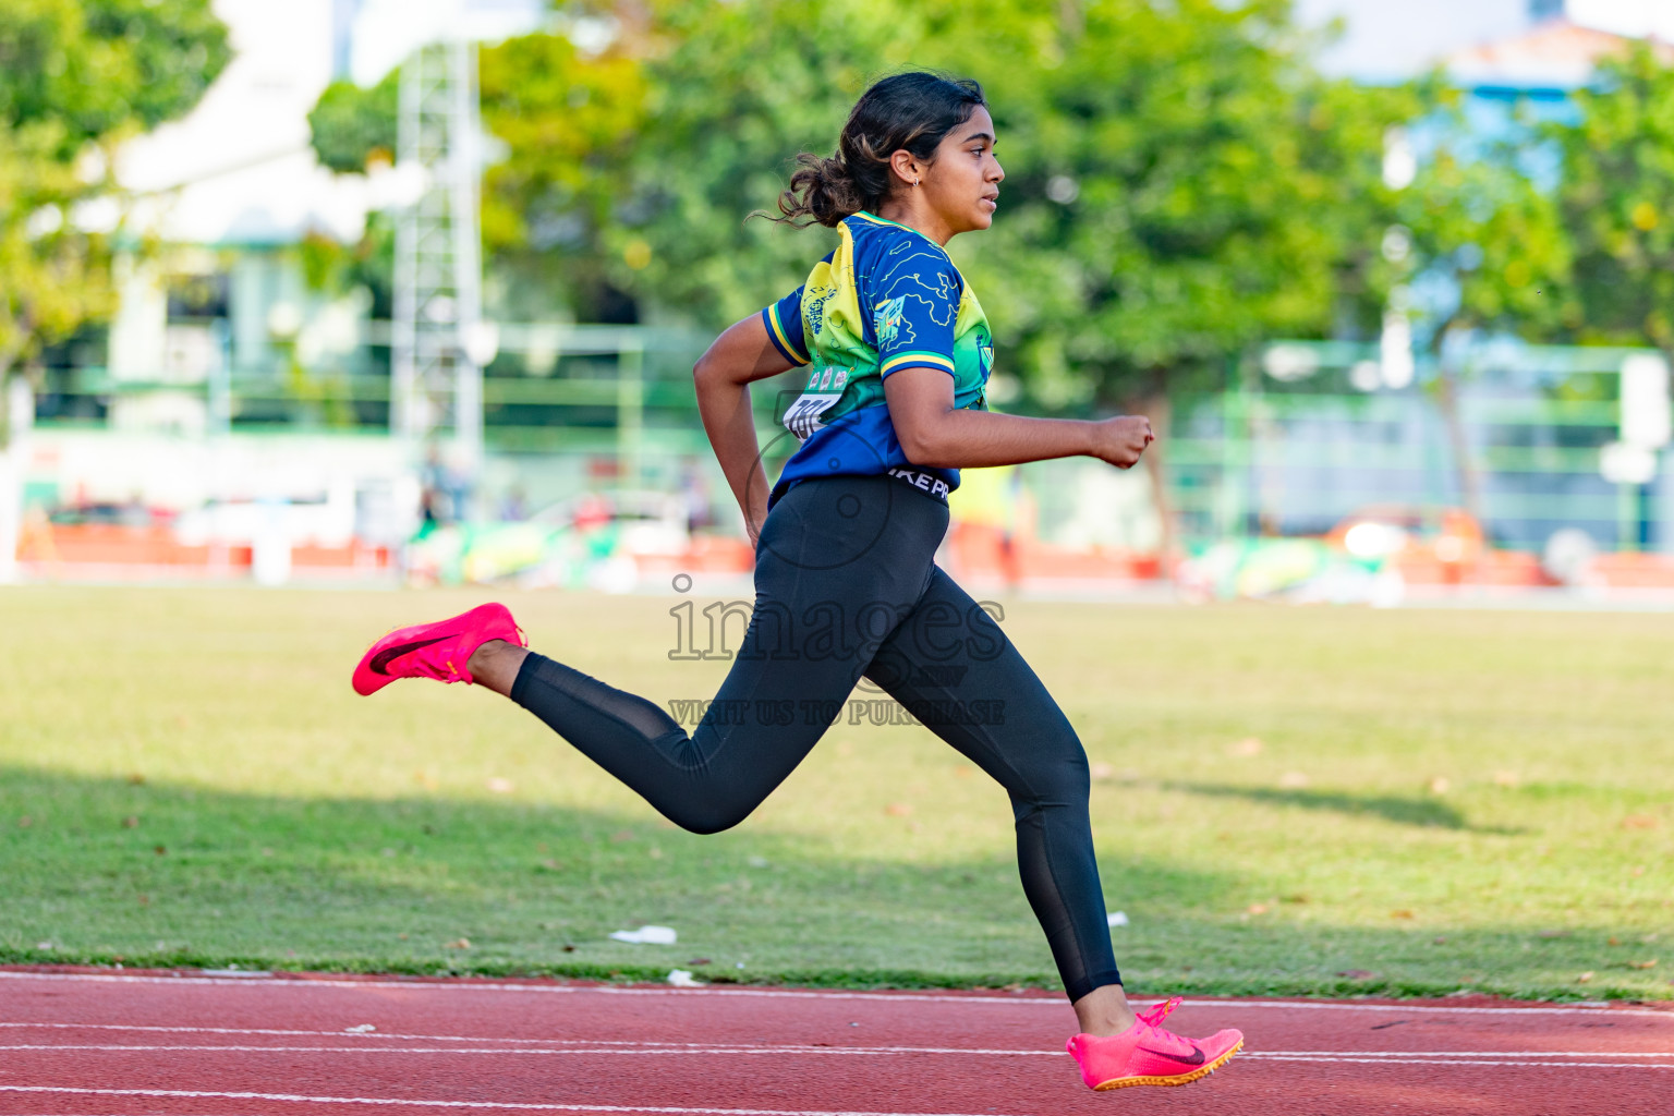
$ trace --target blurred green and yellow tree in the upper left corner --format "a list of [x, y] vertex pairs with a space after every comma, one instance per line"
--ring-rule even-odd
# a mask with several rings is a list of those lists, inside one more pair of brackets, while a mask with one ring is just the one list
[[82, 206], [116, 192], [116, 146], [184, 115], [229, 57], [209, 0], [0, 5], [0, 383], [110, 306], [110, 238]]

